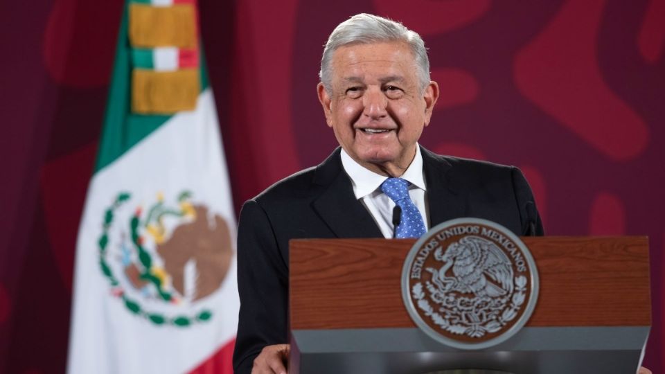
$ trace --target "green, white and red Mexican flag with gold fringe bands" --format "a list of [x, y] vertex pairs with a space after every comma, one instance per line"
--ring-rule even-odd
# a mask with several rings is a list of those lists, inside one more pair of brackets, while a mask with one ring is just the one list
[[127, 1], [78, 235], [69, 373], [231, 373], [233, 212], [196, 3]]

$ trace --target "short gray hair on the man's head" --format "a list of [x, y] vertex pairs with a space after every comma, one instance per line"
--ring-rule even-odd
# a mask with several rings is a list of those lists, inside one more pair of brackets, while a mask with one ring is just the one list
[[418, 79], [420, 88], [425, 89], [429, 84], [429, 59], [425, 42], [418, 33], [409, 30], [400, 22], [391, 19], [360, 13], [337, 25], [328, 37], [326, 47], [323, 48], [321, 58], [321, 71], [319, 78], [323, 82], [328, 94], [332, 93], [332, 54], [341, 46], [351, 44], [372, 44], [381, 42], [404, 42], [411, 48], [411, 53], [418, 66]]

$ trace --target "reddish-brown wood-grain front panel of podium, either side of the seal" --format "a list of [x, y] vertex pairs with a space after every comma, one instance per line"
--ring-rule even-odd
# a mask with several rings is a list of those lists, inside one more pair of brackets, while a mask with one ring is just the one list
[[[649, 326], [646, 237], [522, 238], [540, 274], [526, 326]], [[413, 239], [292, 240], [292, 329], [411, 328], [402, 265]]]

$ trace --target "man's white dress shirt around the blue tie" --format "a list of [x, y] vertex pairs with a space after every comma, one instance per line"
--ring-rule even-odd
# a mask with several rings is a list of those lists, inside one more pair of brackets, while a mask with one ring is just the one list
[[[344, 150], [342, 150], [342, 167], [351, 178], [353, 193], [356, 199], [365, 206], [369, 214], [379, 226], [385, 238], [393, 238], [395, 228], [393, 227], [393, 208], [395, 202], [384, 194], [381, 184], [388, 179], [384, 175], [377, 174], [360, 166]], [[425, 172], [423, 170], [423, 156], [420, 147], [416, 145], [416, 157], [411, 165], [400, 175], [400, 178], [409, 181], [409, 196], [413, 200], [420, 215], [423, 216], [425, 226], [429, 228], [429, 211], [427, 209], [427, 186], [425, 186]]]

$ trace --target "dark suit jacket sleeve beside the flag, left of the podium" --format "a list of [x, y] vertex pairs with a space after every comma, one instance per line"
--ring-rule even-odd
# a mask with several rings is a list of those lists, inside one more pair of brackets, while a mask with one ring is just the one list
[[268, 215], [258, 202], [249, 200], [242, 206], [238, 221], [236, 374], [250, 373], [264, 346], [285, 343], [288, 274]]

